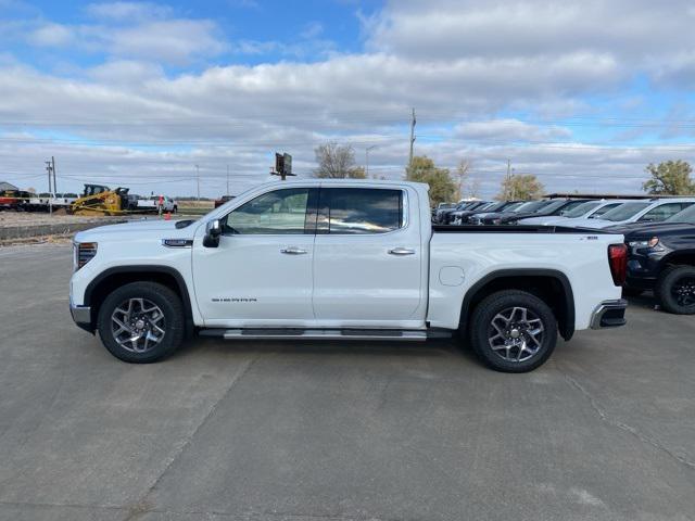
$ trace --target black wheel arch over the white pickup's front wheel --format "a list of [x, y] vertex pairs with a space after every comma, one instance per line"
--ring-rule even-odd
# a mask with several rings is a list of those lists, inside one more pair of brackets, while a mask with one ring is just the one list
[[85, 290], [85, 306], [91, 308], [90, 327], [97, 329], [99, 308], [114, 289], [130, 282], [157, 282], [174, 291], [184, 305], [186, 335], [193, 332], [193, 309], [184, 276], [170, 266], [141, 265], [117, 266], [99, 274]]

